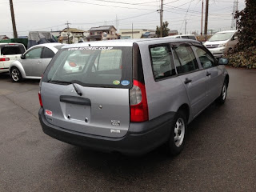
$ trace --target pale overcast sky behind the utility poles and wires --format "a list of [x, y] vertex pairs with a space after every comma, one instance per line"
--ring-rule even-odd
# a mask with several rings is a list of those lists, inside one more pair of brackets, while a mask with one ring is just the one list
[[[63, 30], [70, 27], [89, 30], [93, 26], [114, 25], [118, 29], [155, 30], [159, 25], [161, 0], [13, 0], [18, 36], [33, 30]], [[206, 2], [206, 0], [204, 0]], [[190, 34], [201, 31], [202, 0], [163, 0], [163, 22], [170, 30]], [[233, 0], [210, 0], [211, 30], [230, 30]], [[245, 7], [238, 1], [238, 10]], [[0, 35], [13, 37], [10, 1], [0, 0]], [[118, 18], [118, 26], [116, 25]], [[186, 24], [186, 25], [185, 25]]]

